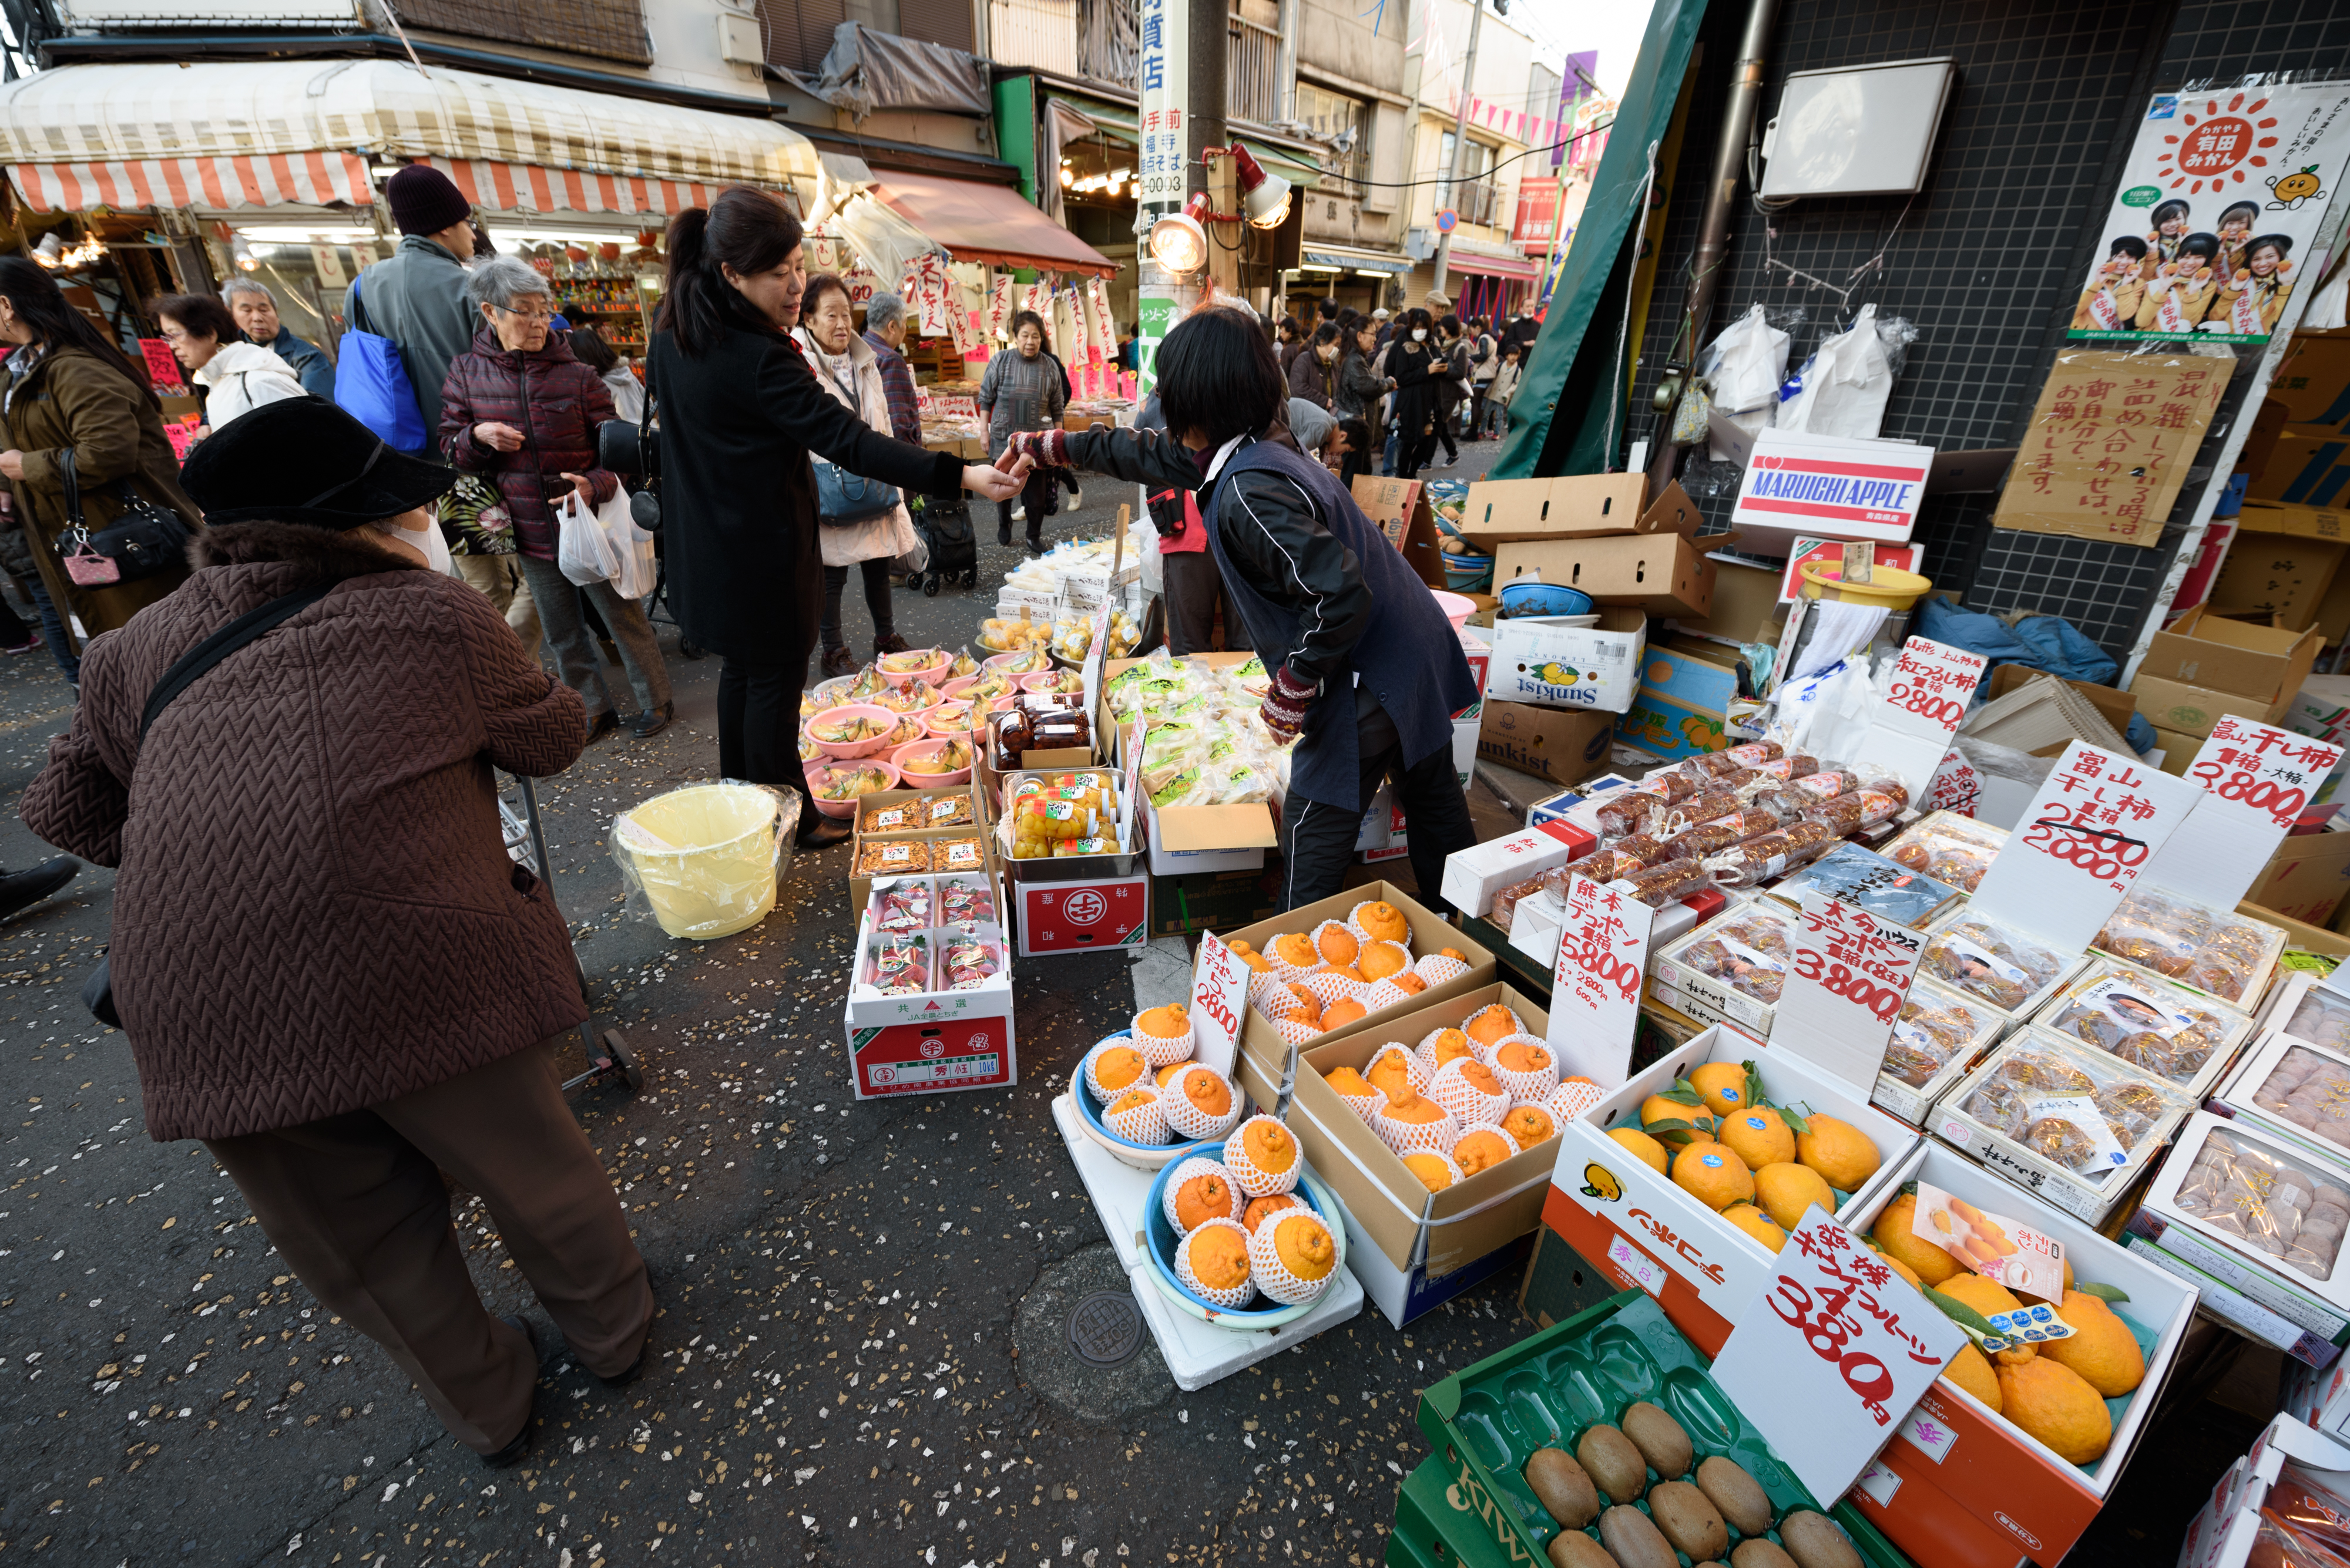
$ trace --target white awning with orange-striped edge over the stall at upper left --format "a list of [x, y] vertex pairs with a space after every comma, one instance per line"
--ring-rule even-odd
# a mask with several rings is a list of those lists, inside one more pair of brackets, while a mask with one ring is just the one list
[[0, 162], [45, 211], [364, 204], [376, 157], [463, 171], [508, 211], [674, 211], [728, 183], [806, 204], [820, 169], [764, 115], [404, 61], [63, 66], [0, 87]]

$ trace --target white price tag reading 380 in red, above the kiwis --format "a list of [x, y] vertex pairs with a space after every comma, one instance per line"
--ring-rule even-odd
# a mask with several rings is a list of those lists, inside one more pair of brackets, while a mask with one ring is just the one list
[[1739, 1312], [1713, 1380], [1814, 1498], [1842, 1498], [1965, 1343], [1866, 1242], [1812, 1209]]

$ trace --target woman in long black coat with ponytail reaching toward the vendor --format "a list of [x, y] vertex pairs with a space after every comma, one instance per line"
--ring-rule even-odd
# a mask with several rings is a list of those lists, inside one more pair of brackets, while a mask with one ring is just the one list
[[[670, 608], [719, 669], [719, 775], [808, 793], [799, 695], [825, 608], [815, 469], [808, 453], [916, 495], [1020, 493], [874, 432], [815, 380], [792, 343], [808, 282], [799, 221], [766, 190], [733, 185], [670, 221], [670, 277], [649, 352], [660, 420], [660, 514]], [[799, 843], [846, 838], [804, 810]]]

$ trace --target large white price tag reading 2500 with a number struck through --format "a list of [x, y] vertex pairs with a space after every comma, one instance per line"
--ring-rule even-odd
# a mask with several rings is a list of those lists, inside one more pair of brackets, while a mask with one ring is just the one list
[[2134, 756], [2073, 742], [2023, 807], [1969, 911], [2077, 953], [2138, 885], [2200, 796], [2188, 779]]

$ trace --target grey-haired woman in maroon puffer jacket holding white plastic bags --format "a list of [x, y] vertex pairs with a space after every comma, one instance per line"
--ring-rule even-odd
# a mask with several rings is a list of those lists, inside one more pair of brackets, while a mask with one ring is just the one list
[[611, 390], [578, 361], [571, 343], [548, 331], [555, 296], [538, 272], [512, 256], [494, 256], [465, 277], [465, 291], [482, 307], [484, 326], [472, 347], [449, 364], [442, 383], [442, 451], [463, 469], [498, 486], [515, 519], [522, 577], [531, 584], [538, 620], [555, 646], [564, 685], [588, 704], [588, 739], [620, 728], [597, 664], [595, 638], [580, 617], [578, 596], [595, 601], [597, 615], [620, 648], [620, 664], [637, 688], [639, 739], [667, 728], [670, 671], [644, 608], [620, 599], [611, 582], [573, 589], [555, 563], [559, 528], [555, 507], [576, 491], [588, 507], [613, 498], [620, 481], [595, 467], [597, 425], [613, 418]]

